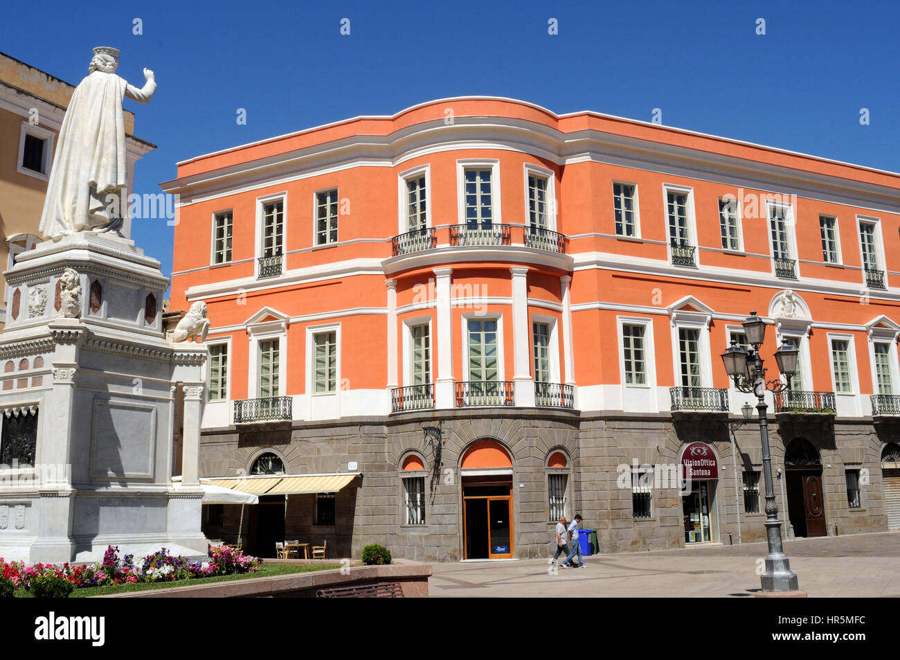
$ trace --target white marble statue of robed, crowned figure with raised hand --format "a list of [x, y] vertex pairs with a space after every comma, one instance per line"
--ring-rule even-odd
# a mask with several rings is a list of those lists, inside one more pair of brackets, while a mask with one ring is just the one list
[[69, 101], [40, 217], [44, 238], [121, 228], [128, 185], [122, 101], [127, 96], [147, 103], [157, 83], [145, 68], [147, 82], [138, 89], [115, 75], [118, 66], [118, 50], [95, 48], [89, 73]]

